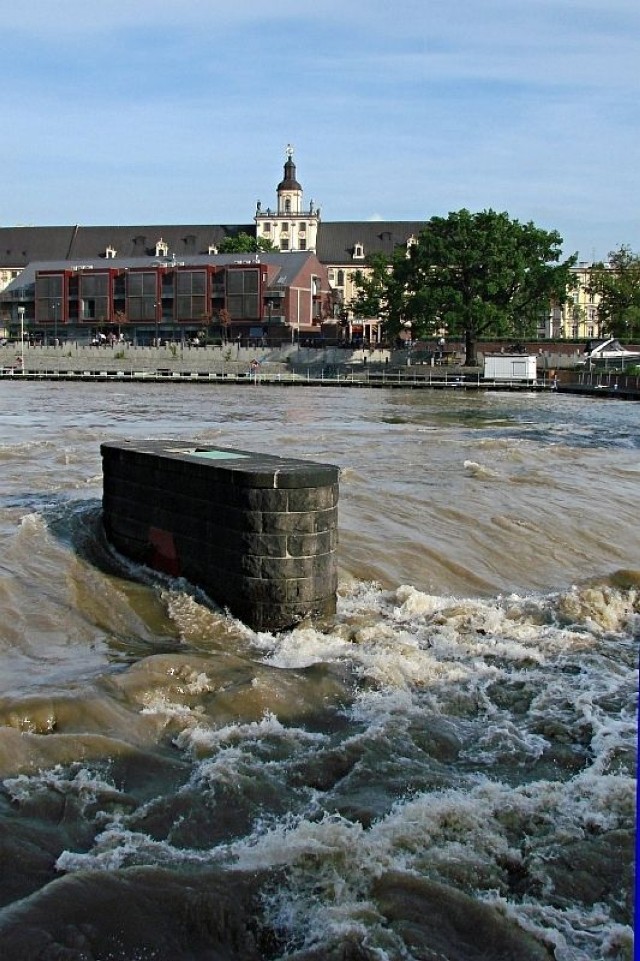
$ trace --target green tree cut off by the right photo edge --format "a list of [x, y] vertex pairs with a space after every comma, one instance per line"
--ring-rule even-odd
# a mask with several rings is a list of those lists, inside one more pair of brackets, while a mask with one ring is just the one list
[[614, 337], [640, 337], [640, 256], [622, 244], [606, 264], [594, 264], [589, 293], [599, 297], [598, 314]]

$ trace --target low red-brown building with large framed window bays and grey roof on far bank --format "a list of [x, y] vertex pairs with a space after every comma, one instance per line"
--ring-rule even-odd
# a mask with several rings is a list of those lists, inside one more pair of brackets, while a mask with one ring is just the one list
[[0, 296], [9, 333], [49, 344], [126, 338], [281, 344], [317, 338], [334, 310], [311, 252], [108, 257], [29, 264]]

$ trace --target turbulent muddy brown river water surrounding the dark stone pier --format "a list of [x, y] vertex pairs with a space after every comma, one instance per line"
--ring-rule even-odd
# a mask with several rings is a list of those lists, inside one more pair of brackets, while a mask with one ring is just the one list
[[[631, 958], [640, 407], [0, 383], [0, 956]], [[101, 530], [100, 442], [340, 468], [335, 619]]]

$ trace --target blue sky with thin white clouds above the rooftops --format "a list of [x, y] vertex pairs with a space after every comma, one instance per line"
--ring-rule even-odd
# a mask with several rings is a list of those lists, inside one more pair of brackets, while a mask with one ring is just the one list
[[505, 211], [640, 252], [638, 0], [0, 0], [0, 225]]

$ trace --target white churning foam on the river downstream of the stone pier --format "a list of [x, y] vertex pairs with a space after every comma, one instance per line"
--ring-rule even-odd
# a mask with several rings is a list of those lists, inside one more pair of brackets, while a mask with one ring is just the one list
[[[177, 605], [183, 623], [191, 612], [200, 617], [192, 603]], [[246, 837], [206, 850], [136, 829], [142, 807], [129, 816], [105, 805], [98, 819], [105, 829], [91, 850], [64, 852], [58, 868], [286, 868], [287, 881], [265, 894], [265, 907], [290, 946], [354, 937], [381, 958], [406, 948], [379, 916], [373, 888], [400, 871], [481, 898], [552, 945], [557, 961], [616, 958], [617, 951], [622, 957], [628, 928], [606, 904], [576, 901], [560, 909], [549, 864], [563, 846], [588, 847], [590, 839], [628, 832], [634, 823], [637, 684], [629, 630], [637, 617], [636, 592], [604, 587], [482, 600], [354, 584], [341, 596], [334, 626], [251, 634], [251, 647], [282, 670], [338, 663], [351, 671], [343, 749], [359, 740], [397, 743], [394, 735], [412, 724], [428, 733], [432, 718], [446, 721], [460, 743], [454, 786], [414, 790], [366, 826], [330, 813], [331, 789], [306, 786], [297, 813], [265, 811]], [[185, 796], [242, 792], [243, 785], [251, 791], [256, 779], [280, 791], [292, 763], [331, 743], [328, 734], [287, 727], [274, 712], [220, 725], [198, 703], [213, 689], [206, 671], [185, 665], [177, 680], [190, 706], [158, 690], [147, 693], [140, 710], [178, 722], [173, 743], [193, 765], [180, 789]], [[558, 739], [582, 752], [577, 773], [514, 783], [519, 768], [535, 771]], [[15, 792], [32, 789], [29, 779], [15, 779]], [[511, 869], [526, 873], [533, 893], [514, 896]]]

